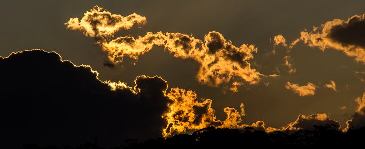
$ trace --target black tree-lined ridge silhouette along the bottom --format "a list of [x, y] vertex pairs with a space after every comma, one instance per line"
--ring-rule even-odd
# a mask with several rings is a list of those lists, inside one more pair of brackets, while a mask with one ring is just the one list
[[[331, 125], [314, 126], [314, 130], [299, 130], [292, 134], [281, 131], [265, 133], [250, 127], [244, 130], [220, 129], [207, 127], [193, 134], [175, 135], [171, 138], [151, 139], [137, 143], [134, 139], [125, 141], [124, 145], [110, 149], [208, 149], [208, 148], [361, 148], [365, 139], [365, 127], [349, 129], [343, 133]], [[54, 146], [40, 148], [29, 144], [23, 149], [61, 149]], [[104, 149], [92, 143], [85, 143], [76, 148], [63, 149]]]

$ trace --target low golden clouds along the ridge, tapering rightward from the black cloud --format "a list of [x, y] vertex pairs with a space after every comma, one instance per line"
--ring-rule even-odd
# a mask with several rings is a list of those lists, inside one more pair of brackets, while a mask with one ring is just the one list
[[163, 129], [164, 137], [171, 137], [181, 133], [191, 133], [209, 126], [217, 128], [244, 129], [252, 127], [255, 130], [272, 132], [279, 129], [265, 127], [265, 123], [258, 121], [252, 125], [243, 123], [246, 115], [244, 105], [241, 103], [240, 111], [235, 108], [226, 107], [226, 119], [216, 119], [215, 110], [212, 108], [211, 99], [197, 99], [195, 92], [181, 88], [171, 88], [167, 96], [172, 102], [168, 104], [168, 110], [163, 114], [166, 120], [166, 127]]

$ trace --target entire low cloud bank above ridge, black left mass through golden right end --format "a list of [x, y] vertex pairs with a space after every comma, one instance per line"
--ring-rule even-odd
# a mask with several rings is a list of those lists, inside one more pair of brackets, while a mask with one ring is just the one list
[[[216, 119], [211, 99], [171, 88], [161, 77], [138, 76], [133, 87], [122, 81], [101, 81], [89, 66], [61, 60], [55, 52], [27, 50], [0, 58], [1, 140], [5, 147], [22, 144], [77, 146], [98, 138], [100, 146], [118, 146], [127, 138], [146, 140], [215, 128], [275, 133], [321, 127], [340, 132], [326, 114], [300, 115], [281, 130], [265, 122], [244, 124], [240, 110], [226, 107], [225, 120]], [[365, 95], [348, 128], [364, 126]], [[195, 132], [196, 133], [196, 132]]]

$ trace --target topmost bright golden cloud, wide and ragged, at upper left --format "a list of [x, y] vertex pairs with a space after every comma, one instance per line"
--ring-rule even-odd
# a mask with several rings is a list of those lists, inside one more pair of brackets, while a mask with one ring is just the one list
[[136, 13], [121, 16], [95, 6], [90, 11], [86, 11], [81, 20], [77, 17], [70, 18], [65, 25], [67, 29], [80, 30], [88, 37], [108, 39], [120, 29], [130, 29], [134, 24], [144, 25], [146, 21], [146, 17]]

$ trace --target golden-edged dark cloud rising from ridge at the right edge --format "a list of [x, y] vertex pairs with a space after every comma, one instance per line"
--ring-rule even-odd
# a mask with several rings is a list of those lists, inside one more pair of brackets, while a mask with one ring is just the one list
[[358, 97], [355, 100], [358, 103], [358, 107], [351, 120], [348, 120], [345, 131], [350, 128], [361, 128], [365, 127], [365, 93], [362, 97]]

